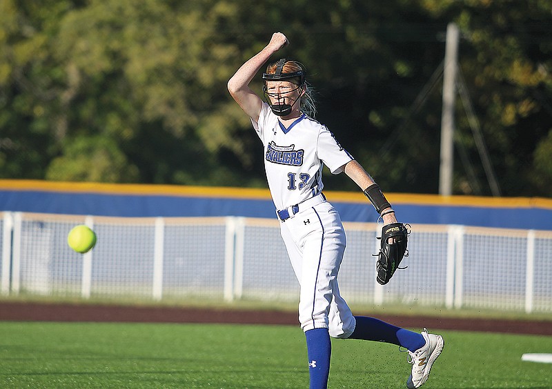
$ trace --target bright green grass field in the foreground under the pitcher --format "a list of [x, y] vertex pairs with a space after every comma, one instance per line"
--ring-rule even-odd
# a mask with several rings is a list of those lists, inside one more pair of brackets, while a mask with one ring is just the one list
[[[293, 326], [0, 322], [1, 388], [308, 388]], [[440, 332], [445, 348], [423, 388], [551, 388], [552, 337]], [[397, 346], [333, 340], [330, 388], [404, 388]]]

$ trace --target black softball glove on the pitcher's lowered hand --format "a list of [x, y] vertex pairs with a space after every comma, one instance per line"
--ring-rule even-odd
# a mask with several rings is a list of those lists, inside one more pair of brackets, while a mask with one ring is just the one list
[[395, 270], [406, 269], [399, 268], [403, 257], [408, 257], [406, 243], [410, 231], [406, 229], [406, 226], [403, 223], [388, 224], [382, 229], [382, 237], [377, 238], [382, 239], [382, 247], [380, 253], [375, 254], [375, 257], [377, 257], [376, 281], [382, 285], [389, 282], [395, 274]]

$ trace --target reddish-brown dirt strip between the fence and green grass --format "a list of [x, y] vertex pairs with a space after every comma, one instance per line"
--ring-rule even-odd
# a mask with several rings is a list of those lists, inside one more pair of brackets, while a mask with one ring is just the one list
[[[374, 315], [404, 328], [466, 330], [552, 335], [552, 321], [511, 319], [459, 319]], [[69, 303], [0, 302], [0, 320], [9, 321], [95, 321], [127, 323], [248, 323], [299, 326], [295, 312], [215, 308], [172, 308]]]

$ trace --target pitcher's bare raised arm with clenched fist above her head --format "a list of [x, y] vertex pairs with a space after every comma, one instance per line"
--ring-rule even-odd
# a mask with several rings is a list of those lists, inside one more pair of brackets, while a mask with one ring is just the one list
[[262, 99], [249, 88], [249, 83], [270, 56], [288, 43], [288, 39], [282, 32], [275, 32], [268, 45], [248, 59], [228, 81], [228, 92], [254, 121], [259, 119]]

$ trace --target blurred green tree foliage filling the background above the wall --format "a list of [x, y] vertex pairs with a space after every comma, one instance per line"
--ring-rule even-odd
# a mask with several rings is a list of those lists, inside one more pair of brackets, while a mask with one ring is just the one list
[[[281, 30], [292, 44], [278, 55], [306, 65], [317, 119], [382, 188], [437, 192], [442, 83], [429, 81], [455, 22], [502, 193], [549, 196], [551, 18], [547, 0], [4, 0], [0, 178], [265, 186], [226, 82]], [[464, 110], [455, 193], [490, 194]], [[356, 190], [342, 176], [327, 186]]]

